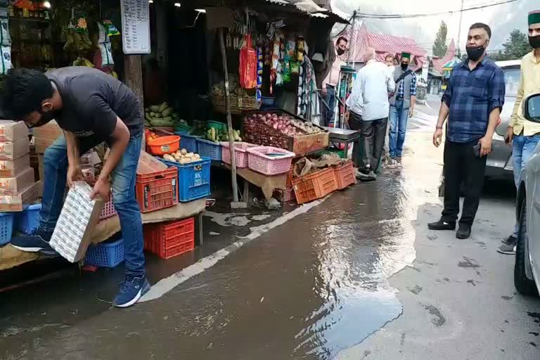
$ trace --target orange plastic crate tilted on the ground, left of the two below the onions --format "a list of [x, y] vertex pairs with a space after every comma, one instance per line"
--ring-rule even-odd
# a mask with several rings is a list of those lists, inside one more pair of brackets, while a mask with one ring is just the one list
[[296, 202], [299, 204], [323, 198], [338, 190], [334, 170], [330, 167], [293, 179]]

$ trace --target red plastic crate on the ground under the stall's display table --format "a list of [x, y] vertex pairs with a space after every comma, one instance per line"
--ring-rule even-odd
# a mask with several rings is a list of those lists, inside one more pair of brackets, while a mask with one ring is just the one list
[[195, 219], [144, 225], [144, 249], [162, 259], [184, 254], [195, 249]]

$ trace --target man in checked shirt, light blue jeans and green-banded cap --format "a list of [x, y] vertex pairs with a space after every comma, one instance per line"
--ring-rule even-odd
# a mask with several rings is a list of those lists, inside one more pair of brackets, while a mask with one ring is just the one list
[[397, 91], [390, 98], [390, 158], [401, 166], [407, 119], [413, 116], [416, 103], [416, 75], [409, 70], [410, 53], [401, 53], [401, 66], [394, 70]]

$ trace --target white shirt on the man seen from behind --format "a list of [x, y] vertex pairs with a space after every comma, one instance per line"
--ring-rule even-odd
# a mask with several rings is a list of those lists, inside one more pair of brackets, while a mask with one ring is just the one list
[[356, 75], [347, 106], [364, 121], [384, 119], [390, 110], [388, 93], [395, 89], [393, 75], [390, 76], [386, 64], [369, 60]]

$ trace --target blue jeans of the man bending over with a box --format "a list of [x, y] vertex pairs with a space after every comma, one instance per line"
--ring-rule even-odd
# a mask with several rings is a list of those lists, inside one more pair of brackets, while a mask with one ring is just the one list
[[[139, 203], [135, 198], [136, 172], [141, 154], [142, 137], [142, 134], [131, 136], [124, 156], [113, 170], [111, 183], [113, 204], [120, 218], [124, 238], [126, 274], [137, 277], [145, 275], [143, 224]], [[78, 140], [81, 154], [103, 142], [95, 136]], [[45, 179], [39, 214], [39, 231], [52, 233], [63, 207], [67, 182], [68, 155], [64, 136], [60, 136], [45, 150], [43, 162]]]

